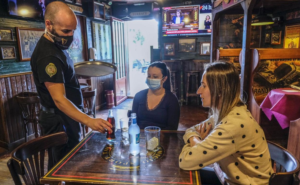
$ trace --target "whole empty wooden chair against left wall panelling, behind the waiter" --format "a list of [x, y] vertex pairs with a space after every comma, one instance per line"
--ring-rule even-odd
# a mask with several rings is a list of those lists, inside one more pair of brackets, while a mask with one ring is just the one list
[[41, 111], [41, 104], [40, 98], [38, 96], [31, 96], [31, 97], [18, 97], [16, 96], [16, 101], [19, 106], [19, 110], [22, 115], [23, 120], [23, 134], [25, 137], [25, 142], [27, 142], [27, 134], [28, 123], [33, 123], [34, 130], [35, 130], [35, 137], [39, 137], [40, 134], [38, 133], [38, 126], [41, 128], [41, 133], [43, 134], [43, 128], [40, 123], [40, 111]]

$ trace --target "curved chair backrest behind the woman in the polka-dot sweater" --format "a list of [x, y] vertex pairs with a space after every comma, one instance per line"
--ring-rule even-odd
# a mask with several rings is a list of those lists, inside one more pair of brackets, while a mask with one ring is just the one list
[[298, 178], [300, 170], [299, 161], [283, 147], [270, 141], [267, 142], [272, 167], [274, 168], [274, 164], [276, 166], [276, 172], [271, 175], [269, 185], [298, 185], [300, 183]]

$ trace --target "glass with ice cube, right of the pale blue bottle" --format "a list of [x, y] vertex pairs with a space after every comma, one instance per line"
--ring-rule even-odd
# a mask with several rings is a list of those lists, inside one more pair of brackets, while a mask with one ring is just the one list
[[156, 152], [159, 148], [161, 128], [157, 126], [148, 126], [145, 128], [147, 151]]

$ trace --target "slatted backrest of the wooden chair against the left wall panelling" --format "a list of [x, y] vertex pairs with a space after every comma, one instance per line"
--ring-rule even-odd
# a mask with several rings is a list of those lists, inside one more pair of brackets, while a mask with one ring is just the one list
[[38, 119], [41, 111], [40, 98], [38, 96], [19, 97], [16, 96], [19, 109], [23, 115], [22, 119], [26, 122], [33, 123]]

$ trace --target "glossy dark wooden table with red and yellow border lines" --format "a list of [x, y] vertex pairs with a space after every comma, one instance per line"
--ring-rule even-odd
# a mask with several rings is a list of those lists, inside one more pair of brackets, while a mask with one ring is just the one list
[[42, 184], [201, 184], [199, 171], [179, 168], [184, 146], [183, 131], [161, 131], [158, 152], [146, 152], [145, 133], [140, 132], [139, 156], [129, 154], [128, 141], [115, 142], [106, 134], [90, 132], [40, 179]]

